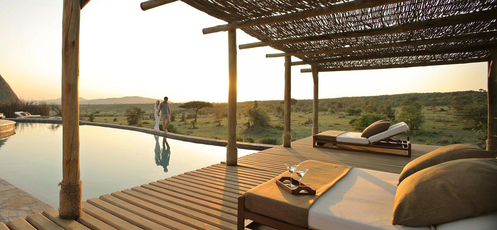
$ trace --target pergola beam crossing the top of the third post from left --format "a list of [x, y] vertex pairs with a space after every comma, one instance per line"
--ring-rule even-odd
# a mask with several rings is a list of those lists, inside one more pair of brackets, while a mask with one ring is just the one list
[[446, 43], [446, 42], [461, 42], [461, 41], [474, 40], [474, 39], [490, 39], [490, 38], [496, 38], [496, 37], [497, 37], [497, 31], [489, 31], [489, 32], [483, 32], [483, 33], [446, 36], [446, 37], [440, 37], [440, 38], [420, 39], [420, 40], [404, 41], [404, 42], [392, 42], [392, 43], [384, 43], [384, 44], [377, 44], [377, 45], [351, 46], [351, 47], [342, 47], [342, 48], [336, 48], [336, 49], [303, 51], [303, 52], [295, 52], [295, 53], [266, 54], [266, 58], [278, 58], [278, 57], [285, 57], [285, 56], [306, 56], [306, 55], [334, 54], [334, 53], [344, 53], [344, 52], [351, 52], [351, 51], [365, 51], [365, 50], [397, 48], [397, 47], [405, 47], [405, 46], [431, 45], [431, 44]]

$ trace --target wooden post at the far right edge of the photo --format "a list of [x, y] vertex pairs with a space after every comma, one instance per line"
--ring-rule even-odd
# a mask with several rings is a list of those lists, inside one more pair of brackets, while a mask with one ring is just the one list
[[489, 106], [487, 150], [497, 150], [497, 52], [489, 61], [487, 98]]

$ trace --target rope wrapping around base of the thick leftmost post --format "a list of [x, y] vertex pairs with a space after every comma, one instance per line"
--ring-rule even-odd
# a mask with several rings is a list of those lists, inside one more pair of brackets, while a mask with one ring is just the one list
[[81, 200], [83, 198], [83, 182], [66, 184], [60, 182], [59, 216], [66, 220], [76, 220], [83, 213]]

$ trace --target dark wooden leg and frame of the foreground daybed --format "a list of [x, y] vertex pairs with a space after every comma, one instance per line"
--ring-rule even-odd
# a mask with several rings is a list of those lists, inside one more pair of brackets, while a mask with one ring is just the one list
[[[245, 221], [245, 219], [249, 221]], [[291, 225], [283, 221], [272, 219], [260, 214], [252, 213], [245, 209], [245, 197], [238, 197], [238, 221], [237, 230], [245, 230], [253, 222], [271, 227], [277, 230], [314, 230], [310, 228], [304, 228], [296, 225]]]

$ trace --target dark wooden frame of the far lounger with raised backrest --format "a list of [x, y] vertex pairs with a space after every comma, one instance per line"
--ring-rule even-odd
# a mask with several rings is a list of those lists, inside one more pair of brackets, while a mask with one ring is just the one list
[[[315, 148], [330, 148], [330, 149], [340, 149], [347, 151], [355, 151], [355, 152], [365, 152], [365, 153], [374, 153], [381, 155], [393, 155], [393, 156], [402, 156], [402, 157], [411, 157], [411, 141], [409, 141], [409, 137], [407, 140], [399, 140], [395, 138], [396, 135], [387, 137], [385, 139], [370, 143], [370, 144], [357, 144], [357, 143], [348, 143], [348, 142], [339, 142], [339, 141], [324, 141], [324, 140], [316, 140], [316, 135], [312, 136], [313, 139], [313, 147]], [[331, 144], [331, 146], [325, 146], [325, 144]], [[367, 149], [357, 149], [350, 148], [347, 146], [357, 146], [357, 147], [366, 147]], [[378, 151], [373, 150], [372, 148], [378, 149]], [[396, 152], [383, 152], [380, 150], [396, 150]], [[397, 153], [400, 151], [401, 153]]]

